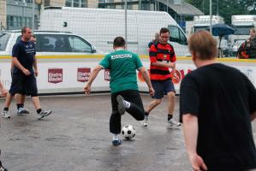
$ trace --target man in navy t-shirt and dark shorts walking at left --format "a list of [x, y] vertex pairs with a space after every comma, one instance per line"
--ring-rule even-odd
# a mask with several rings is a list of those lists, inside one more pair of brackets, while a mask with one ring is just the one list
[[39, 119], [41, 119], [50, 115], [51, 110], [42, 110], [39, 102], [37, 80], [35, 78], [39, 74], [37, 59], [35, 58], [36, 50], [35, 44], [29, 41], [32, 36], [31, 29], [29, 27], [23, 27], [21, 34], [21, 40], [14, 45], [12, 50], [12, 62], [15, 67], [13, 69], [9, 95], [30, 95]]

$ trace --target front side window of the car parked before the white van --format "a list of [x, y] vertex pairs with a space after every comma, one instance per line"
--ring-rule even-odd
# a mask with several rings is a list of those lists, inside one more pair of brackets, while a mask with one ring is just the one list
[[73, 52], [92, 53], [92, 46], [82, 38], [79, 38], [77, 36], [69, 36], [68, 42]]

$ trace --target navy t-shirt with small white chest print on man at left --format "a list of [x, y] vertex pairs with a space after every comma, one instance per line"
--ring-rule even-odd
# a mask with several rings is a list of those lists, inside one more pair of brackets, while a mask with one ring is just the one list
[[[12, 50], [12, 56], [16, 57], [24, 68], [33, 74], [33, 62], [36, 55], [35, 44], [32, 41], [17, 42]], [[22, 73], [19, 68], [14, 68], [13, 73]]]

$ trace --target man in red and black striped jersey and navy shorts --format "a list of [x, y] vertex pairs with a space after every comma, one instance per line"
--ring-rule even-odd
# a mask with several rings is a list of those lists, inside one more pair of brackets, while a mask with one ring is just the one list
[[164, 94], [168, 96], [167, 127], [181, 126], [181, 123], [174, 121], [173, 118], [176, 92], [169, 69], [176, 70], [176, 54], [172, 45], [168, 43], [169, 38], [169, 29], [161, 28], [160, 41], [152, 44], [149, 51], [151, 62], [150, 79], [155, 90], [155, 95], [152, 97], [154, 98], [152, 103], [146, 107], [145, 119], [142, 122], [145, 127], [147, 127], [149, 113], [162, 102]]

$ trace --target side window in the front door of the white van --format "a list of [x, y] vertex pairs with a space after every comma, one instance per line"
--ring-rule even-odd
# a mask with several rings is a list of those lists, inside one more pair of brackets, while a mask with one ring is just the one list
[[179, 27], [169, 26], [170, 41], [187, 45], [187, 38]]

